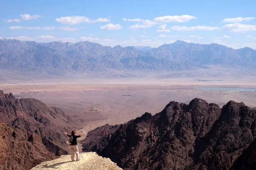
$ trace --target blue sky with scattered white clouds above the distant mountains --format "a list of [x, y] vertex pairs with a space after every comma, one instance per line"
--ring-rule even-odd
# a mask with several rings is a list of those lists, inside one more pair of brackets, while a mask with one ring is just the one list
[[159, 47], [176, 40], [256, 49], [255, 0], [2, 1], [0, 39]]

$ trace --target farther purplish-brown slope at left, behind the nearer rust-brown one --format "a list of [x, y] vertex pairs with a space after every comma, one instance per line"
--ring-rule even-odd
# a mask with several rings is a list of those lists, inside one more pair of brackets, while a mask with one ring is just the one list
[[40, 135], [47, 149], [58, 156], [67, 153], [67, 136], [62, 131], [71, 131], [71, 125], [78, 125], [58, 108], [49, 108], [33, 98], [17, 99], [3, 91], [0, 91], [0, 122]]

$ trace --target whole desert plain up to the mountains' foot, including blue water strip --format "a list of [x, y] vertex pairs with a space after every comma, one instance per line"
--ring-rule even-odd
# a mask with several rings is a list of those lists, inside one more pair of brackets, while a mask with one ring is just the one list
[[156, 114], [170, 101], [201, 98], [222, 107], [234, 100], [256, 107], [256, 72], [227, 68], [75, 76], [2, 70], [0, 80], [4, 93], [33, 97], [79, 120], [79, 133], [122, 124], [145, 112]]

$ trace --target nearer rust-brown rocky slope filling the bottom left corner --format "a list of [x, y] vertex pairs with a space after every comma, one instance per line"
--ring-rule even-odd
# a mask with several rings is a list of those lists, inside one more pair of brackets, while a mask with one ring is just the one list
[[38, 134], [0, 123], [0, 170], [29, 170], [56, 158]]

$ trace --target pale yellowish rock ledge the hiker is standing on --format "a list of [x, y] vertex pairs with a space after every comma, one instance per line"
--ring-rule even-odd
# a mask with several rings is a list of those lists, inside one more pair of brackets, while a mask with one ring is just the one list
[[58, 159], [43, 162], [31, 170], [122, 170], [108, 158], [97, 153], [81, 153], [80, 161], [71, 162], [70, 156], [63, 155]]

